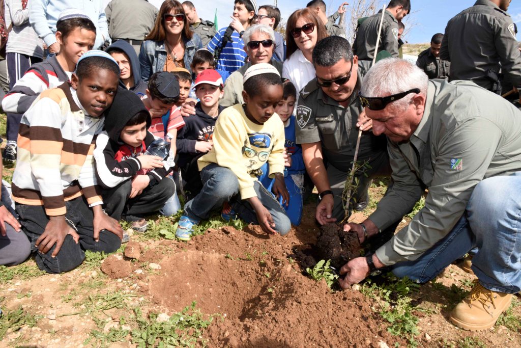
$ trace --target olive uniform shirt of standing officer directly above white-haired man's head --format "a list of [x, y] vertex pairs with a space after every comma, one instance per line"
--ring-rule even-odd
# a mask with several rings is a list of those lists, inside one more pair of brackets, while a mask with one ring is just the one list
[[[358, 28], [355, 41], [353, 42], [353, 53], [358, 56], [358, 59], [363, 61], [373, 60], [381, 17], [382, 11], [380, 10], [376, 15], [364, 20]], [[386, 10], [383, 16], [380, 43], [378, 45], [378, 52], [383, 50], [389, 52], [392, 57], [399, 57], [398, 20], [388, 10]]]

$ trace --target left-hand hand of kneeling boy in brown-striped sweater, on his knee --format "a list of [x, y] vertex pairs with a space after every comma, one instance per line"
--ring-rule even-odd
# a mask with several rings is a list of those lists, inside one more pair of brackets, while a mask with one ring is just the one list
[[70, 234], [76, 244], [78, 244], [80, 236], [71, 226], [69, 226], [67, 220], [65, 220], [65, 215], [49, 217], [49, 222], [47, 223], [47, 226], [45, 226], [45, 231], [43, 231], [42, 235], [36, 239], [35, 246], [38, 248], [40, 253], [46, 254], [47, 251], [51, 250], [51, 248], [56, 244], [53, 254], [51, 255], [51, 257], [56, 257], [60, 251], [61, 245], [65, 241], [65, 237], [68, 234]]

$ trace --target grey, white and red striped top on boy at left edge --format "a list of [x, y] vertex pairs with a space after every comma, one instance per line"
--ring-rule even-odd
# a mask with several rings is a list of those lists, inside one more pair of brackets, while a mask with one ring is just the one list
[[70, 74], [61, 67], [56, 56], [31, 65], [2, 100], [4, 112], [23, 114], [40, 93], [70, 80]]

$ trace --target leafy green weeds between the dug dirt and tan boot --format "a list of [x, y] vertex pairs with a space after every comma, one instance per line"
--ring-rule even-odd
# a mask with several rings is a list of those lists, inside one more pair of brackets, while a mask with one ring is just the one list
[[419, 334], [417, 311], [424, 309], [413, 305], [411, 295], [419, 291], [420, 285], [405, 278], [396, 278], [392, 273], [384, 276], [382, 284], [368, 279], [361, 292], [376, 300], [375, 310], [390, 323], [387, 331], [393, 335], [406, 338], [409, 346], [416, 347], [415, 337]]

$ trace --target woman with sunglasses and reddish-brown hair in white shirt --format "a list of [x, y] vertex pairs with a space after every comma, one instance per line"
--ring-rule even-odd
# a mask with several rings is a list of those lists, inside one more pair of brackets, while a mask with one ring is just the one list
[[293, 12], [286, 25], [286, 61], [282, 77], [289, 79], [299, 92], [315, 78], [312, 63], [313, 49], [318, 41], [328, 36], [320, 18], [309, 8]]

